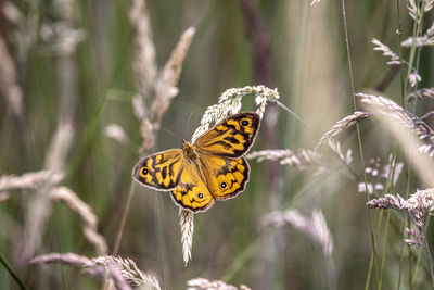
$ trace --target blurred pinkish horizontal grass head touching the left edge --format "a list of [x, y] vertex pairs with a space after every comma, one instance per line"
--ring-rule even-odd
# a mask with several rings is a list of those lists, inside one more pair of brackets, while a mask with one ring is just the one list
[[37, 190], [44, 185], [55, 186], [64, 178], [64, 173], [55, 171], [41, 171], [26, 173], [21, 176], [0, 176], [0, 191], [8, 190]]

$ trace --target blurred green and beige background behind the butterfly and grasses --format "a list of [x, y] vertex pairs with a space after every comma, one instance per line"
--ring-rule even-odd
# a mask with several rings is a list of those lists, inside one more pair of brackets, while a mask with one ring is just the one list
[[[337, 119], [354, 111], [344, 21], [341, 1], [307, 0], [253, 1], [270, 41], [271, 77], [281, 102], [308, 125], [283, 110], [272, 111], [272, 130], [279, 149], [314, 149], [319, 138]], [[250, 161], [251, 180], [237, 199], [217, 202], [204, 214], [195, 215], [192, 261], [184, 266], [180, 242], [178, 207], [168, 193], [135, 185], [131, 169], [139, 160], [140, 121], [131, 100], [137, 93], [133, 72], [135, 30], [128, 14], [130, 1], [41, 1], [13, 2], [22, 13], [20, 25], [0, 16], [0, 33], [17, 67], [23, 90], [24, 122], [14, 118], [5, 98], [0, 98], [0, 173], [24, 174], [44, 167], [48, 147], [61, 116], [73, 121], [74, 138], [66, 155], [63, 185], [76, 191], [99, 218], [99, 231], [113, 250], [120, 216], [130, 190], [135, 191], [119, 254], [129, 256], [146, 273], [154, 274], [165, 289], [186, 289], [195, 277], [224, 279], [252, 289], [327, 289], [327, 263], [317, 245], [290, 226], [263, 229], [261, 217], [290, 207], [310, 215], [321, 209], [334, 241], [333, 263], [337, 289], [365, 287], [371, 256], [366, 196], [345, 171], [315, 176], [314, 171], [280, 166], [278, 185], [270, 185], [269, 163]], [[0, 1], [0, 7], [7, 1]], [[72, 9], [71, 14], [60, 5]], [[403, 39], [412, 34], [413, 21], [400, 1]], [[188, 51], [179, 94], [163, 117], [162, 126], [190, 139], [206, 108], [215, 104], [228, 88], [256, 84], [252, 46], [240, 1], [146, 1], [156, 63], [161, 68], [179, 36], [194, 26], [196, 34]], [[372, 38], [398, 52], [396, 1], [347, 1], [346, 17], [355, 90], [376, 87], [390, 73], [387, 59], [373, 51]], [[56, 51], [55, 43], [42, 37], [54, 23], [64, 22], [77, 29], [80, 40], [69, 53]], [[424, 27], [432, 22], [426, 14]], [[48, 28], [47, 28], [48, 27]], [[404, 55], [408, 50], [403, 49]], [[2, 60], [0, 60], [2, 61]], [[432, 86], [433, 50], [420, 54], [421, 87]], [[383, 94], [399, 103], [400, 79], [395, 74]], [[152, 99], [152, 97], [151, 97]], [[243, 109], [253, 110], [252, 98]], [[424, 102], [421, 112], [432, 103]], [[267, 115], [267, 112], [266, 112]], [[190, 118], [191, 116], [191, 118]], [[130, 138], [123, 146], [104, 135], [104, 128], [119, 124]], [[264, 128], [264, 127], [263, 127]], [[392, 136], [373, 121], [361, 126], [365, 162], [380, 156], [386, 162]], [[179, 148], [180, 140], [164, 130], [151, 152]], [[259, 131], [259, 136], [264, 134]], [[353, 168], [362, 173], [356, 134], [344, 133], [343, 148], [353, 149]], [[267, 148], [257, 138], [253, 150]], [[404, 179], [404, 178], [403, 178]], [[404, 182], [401, 189], [404, 190]], [[131, 189], [132, 187], [132, 189]], [[277, 192], [270, 193], [270, 187]], [[399, 190], [397, 189], [397, 192]], [[23, 225], [34, 193], [20, 191], [0, 203], [0, 251], [16, 274], [31, 289], [97, 289], [100, 282], [61, 265], [17, 266]], [[373, 220], [378, 212], [373, 211]], [[383, 288], [408, 289], [409, 253], [401, 249], [403, 216], [392, 214]], [[74, 252], [95, 256], [84, 238], [78, 216], [62, 204], [42, 234], [37, 254]], [[379, 247], [382, 236], [378, 237]], [[17, 240], [18, 239], [18, 240]], [[404, 262], [403, 262], [404, 261]], [[426, 287], [423, 265], [412, 289]], [[10, 275], [0, 268], [0, 288], [14, 289]], [[375, 282], [371, 281], [371, 289]]]

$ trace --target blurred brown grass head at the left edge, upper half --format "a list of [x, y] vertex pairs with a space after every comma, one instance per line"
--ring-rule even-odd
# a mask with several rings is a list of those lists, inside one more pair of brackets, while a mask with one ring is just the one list
[[16, 66], [9, 53], [8, 46], [0, 35], [0, 90], [11, 112], [23, 118], [23, 91], [18, 86]]

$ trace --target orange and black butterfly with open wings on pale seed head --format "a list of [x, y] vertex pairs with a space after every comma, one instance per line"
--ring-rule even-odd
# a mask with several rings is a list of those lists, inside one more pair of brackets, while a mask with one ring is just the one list
[[215, 200], [241, 193], [250, 166], [242, 156], [252, 147], [260, 116], [244, 112], [229, 116], [182, 149], [145, 156], [132, 169], [140, 185], [170, 190], [175, 203], [190, 212], [205, 212]]

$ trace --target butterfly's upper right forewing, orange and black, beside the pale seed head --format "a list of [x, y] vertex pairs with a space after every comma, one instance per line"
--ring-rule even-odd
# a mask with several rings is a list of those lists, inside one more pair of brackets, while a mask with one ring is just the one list
[[260, 117], [253, 112], [230, 116], [201, 135], [194, 146], [210, 155], [238, 159], [252, 147]]

